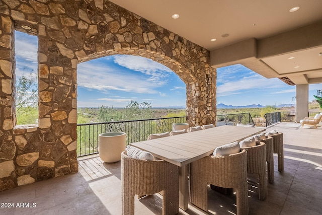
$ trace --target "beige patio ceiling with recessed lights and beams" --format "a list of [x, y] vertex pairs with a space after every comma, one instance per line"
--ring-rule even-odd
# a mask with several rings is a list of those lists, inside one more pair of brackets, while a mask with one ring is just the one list
[[110, 1], [210, 50], [215, 68], [240, 63], [290, 85], [322, 83], [320, 0]]

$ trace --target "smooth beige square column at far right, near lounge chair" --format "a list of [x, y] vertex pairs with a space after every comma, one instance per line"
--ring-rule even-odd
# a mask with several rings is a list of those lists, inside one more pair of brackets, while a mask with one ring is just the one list
[[308, 117], [308, 85], [296, 85], [296, 122]]

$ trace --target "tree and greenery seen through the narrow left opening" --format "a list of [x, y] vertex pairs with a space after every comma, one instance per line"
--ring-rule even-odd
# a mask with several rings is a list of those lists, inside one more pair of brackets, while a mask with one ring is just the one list
[[[24, 67], [24, 71], [28, 69]], [[17, 124], [34, 124], [38, 119], [38, 82], [37, 75], [31, 69], [28, 75], [22, 75], [16, 82]]]

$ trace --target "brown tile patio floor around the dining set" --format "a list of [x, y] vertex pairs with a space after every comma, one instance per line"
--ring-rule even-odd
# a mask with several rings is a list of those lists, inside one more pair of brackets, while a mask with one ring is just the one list
[[[283, 122], [267, 131], [272, 129], [284, 133], [284, 172], [277, 171], [274, 155], [275, 183], [268, 185], [264, 201], [249, 184], [249, 214], [322, 214], [322, 128]], [[0, 207], [0, 214], [121, 214], [121, 162], [106, 164], [98, 155], [78, 160], [76, 174], [0, 192], [0, 203], [15, 203], [15, 208]], [[189, 204], [178, 214], [236, 213], [234, 195], [209, 189], [208, 201], [207, 212]], [[36, 207], [16, 207], [20, 202]], [[135, 214], [162, 214], [162, 196], [136, 199]]]

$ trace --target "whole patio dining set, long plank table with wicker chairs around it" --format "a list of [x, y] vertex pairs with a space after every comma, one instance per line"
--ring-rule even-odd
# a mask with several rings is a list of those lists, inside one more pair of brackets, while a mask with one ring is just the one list
[[278, 171], [284, 168], [283, 133], [265, 130], [203, 125], [131, 144], [121, 153], [122, 214], [134, 214], [135, 195], [154, 193], [163, 196], [163, 214], [187, 210], [189, 200], [207, 211], [208, 185], [233, 188], [237, 214], [248, 214], [247, 174], [258, 174], [259, 199], [264, 200], [267, 181], [274, 182], [273, 153]]

